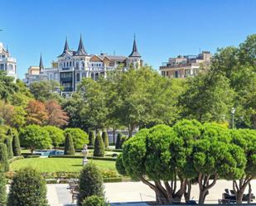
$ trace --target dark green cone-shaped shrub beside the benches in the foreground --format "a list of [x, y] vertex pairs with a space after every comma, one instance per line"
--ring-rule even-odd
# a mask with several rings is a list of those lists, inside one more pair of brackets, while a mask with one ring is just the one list
[[92, 162], [85, 165], [80, 173], [79, 192], [80, 196], [77, 204], [80, 206], [84, 199], [89, 196], [104, 197], [103, 177], [99, 168]]

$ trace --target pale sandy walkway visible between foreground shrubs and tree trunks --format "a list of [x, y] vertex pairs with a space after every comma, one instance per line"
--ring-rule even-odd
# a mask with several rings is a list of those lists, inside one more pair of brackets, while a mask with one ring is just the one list
[[[155, 194], [152, 189], [149, 189], [147, 185], [141, 182], [107, 183], [104, 184], [104, 187], [105, 196], [110, 203], [142, 202], [155, 199]], [[66, 188], [67, 184], [47, 184], [47, 197], [51, 206], [75, 205], [72, 204], [71, 195]], [[221, 198], [226, 188], [232, 189], [232, 181], [219, 180], [217, 184], [210, 189], [210, 194], [206, 197], [206, 203], [217, 203], [217, 200]], [[253, 193], [256, 194], [256, 180], [252, 181], [252, 189]], [[198, 185], [193, 185], [191, 197], [198, 199]]]

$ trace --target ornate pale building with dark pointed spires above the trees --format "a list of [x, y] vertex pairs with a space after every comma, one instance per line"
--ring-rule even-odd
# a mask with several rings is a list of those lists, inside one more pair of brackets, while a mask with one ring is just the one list
[[128, 56], [123, 55], [93, 55], [87, 53], [80, 36], [80, 42], [77, 50], [70, 50], [68, 41], [65, 40], [65, 46], [62, 53], [57, 57], [57, 61], [52, 63], [51, 68], [44, 68], [42, 59], [37, 67], [35, 74], [30, 74], [28, 69], [25, 83], [29, 86], [32, 82], [40, 80], [56, 80], [60, 82], [63, 88], [61, 94], [69, 97], [77, 89], [83, 78], [99, 79], [100, 76], [106, 77], [108, 71], [115, 69], [118, 65], [123, 65], [128, 69], [130, 65], [140, 67], [142, 65], [142, 56], [138, 53], [138, 48], [134, 36], [133, 50]]

